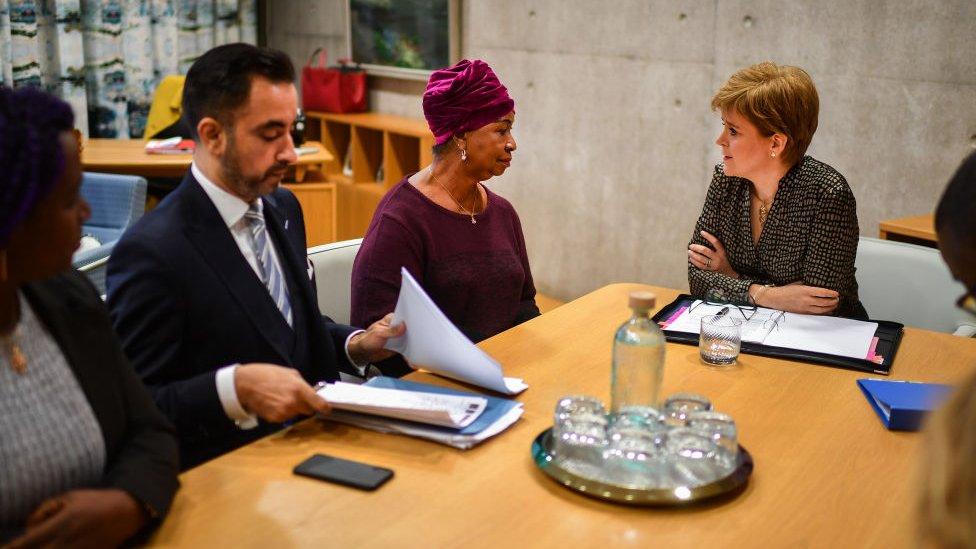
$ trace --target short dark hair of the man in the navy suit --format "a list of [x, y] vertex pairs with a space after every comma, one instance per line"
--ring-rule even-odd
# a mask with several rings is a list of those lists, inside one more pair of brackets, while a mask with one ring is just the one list
[[247, 102], [255, 76], [294, 83], [295, 66], [284, 52], [244, 43], [217, 46], [194, 61], [183, 85], [183, 120], [190, 136], [199, 140], [197, 124], [208, 116], [229, 124], [231, 113]]

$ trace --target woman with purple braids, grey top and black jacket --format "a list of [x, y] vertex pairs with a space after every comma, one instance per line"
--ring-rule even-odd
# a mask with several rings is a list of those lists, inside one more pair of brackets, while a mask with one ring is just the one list
[[176, 441], [95, 288], [71, 270], [81, 162], [64, 102], [0, 87], [0, 545], [109, 547], [150, 530]]

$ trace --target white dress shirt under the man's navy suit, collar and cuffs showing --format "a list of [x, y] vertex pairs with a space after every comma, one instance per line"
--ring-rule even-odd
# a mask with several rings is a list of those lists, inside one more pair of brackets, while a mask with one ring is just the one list
[[[248, 226], [247, 220], [244, 219], [244, 214], [247, 212], [249, 205], [237, 196], [230, 194], [218, 187], [213, 181], [211, 181], [203, 172], [197, 167], [196, 163], [190, 165], [190, 172], [193, 177], [200, 183], [200, 187], [203, 192], [210, 197], [210, 201], [213, 202], [214, 207], [217, 208], [217, 213], [220, 214], [220, 218], [224, 220], [227, 225], [227, 229], [230, 231], [232, 237], [234, 237], [234, 242], [237, 243], [237, 247], [240, 248], [241, 254], [244, 259], [247, 260], [248, 265], [254, 270], [254, 276], [261, 278], [261, 267], [258, 264], [258, 258], [254, 254], [254, 237], [251, 234], [251, 229]], [[259, 212], [264, 212], [264, 203], [261, 200], [256, 201], [256, 207]], [[271, 245], [271, 260], [275, 262], [278, 266], [280, 272], [284, 273], [281, 269], [281, 262], [278, 259], [278, 250], [275, 249], [274, 241], [270, 238], [268, 243]], [[308, 278], [309, 280], [314, 277], [315, 274], [309, 266]], [[351, 356], [349, 356], [349, 341], [352, 340], [354, 336], [362, 333], [363, 330], [357, 330], [346, 338], [345, 351], [346, 357], [349, 362], [354, 365], [360, 374], [365, 372], [366, 367], [369, 364], [357, 364]], [[237, 367], [240, 364], [231, 364], [229, 366], [224, 366], [217, 370], [216, 383], [217, 383], [217, 397], [220, 398], [220, 405], [224, 408], [224, 413], [227, 417], [232, 419], [238, 427], [241, 429], [252, 429], [257, 427], [258, 421], [257, 417], [241, 406], [240, 400], [237, 398], [237, 388], [234, 384], [234, 374], [237, 371]]]

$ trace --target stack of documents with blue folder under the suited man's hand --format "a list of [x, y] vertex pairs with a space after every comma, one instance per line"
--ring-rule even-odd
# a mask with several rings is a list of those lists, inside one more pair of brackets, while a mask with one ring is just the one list
[[467, 449], [522, 417], [522, 403], [426, 383], [374, 377], [319, 391], [335, 408], [325, 419]]

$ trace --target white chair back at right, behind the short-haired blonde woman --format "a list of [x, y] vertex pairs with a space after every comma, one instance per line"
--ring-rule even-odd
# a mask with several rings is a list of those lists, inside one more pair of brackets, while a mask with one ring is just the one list
[[871, 318], [971, 337], [976, 325], [956, 309], [965, 292], [934, 248], [861, 237], [858, 295]]

